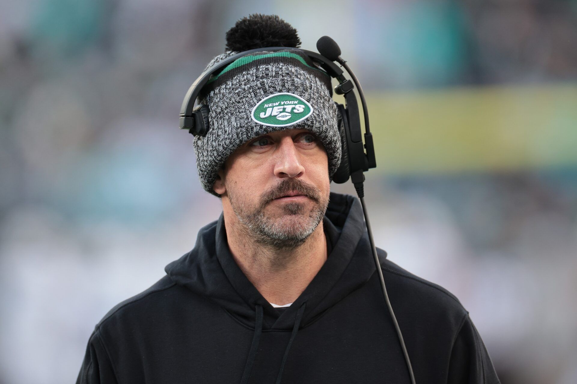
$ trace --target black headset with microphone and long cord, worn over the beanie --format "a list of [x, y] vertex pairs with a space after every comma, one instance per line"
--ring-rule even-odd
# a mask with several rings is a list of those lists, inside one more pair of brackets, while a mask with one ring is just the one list
[[[336, 170], [332, 177], [332, 181], [335, 183], [345, 183], [351, 178], [359, 199], [361, 200], [363, 212], [365, 215], [365, 223], [367, 231], [369, 233], [369, 241], [373, 250], [373, 259], [377, 267], [377, 272], [380, 276], [381, 288], [383, 288], [383, 294], [385, 296], [385, 302], [391, 314], [392, 320], [394, 322], [397, 334], [399, 336], [400, 345], [403, 349], [405, 361], [407, 363], [407, 368], [409, 369], [409, 375], [411, 377], [411, 383], [415, 384], [415, 378], [413, 374], [413, 368], [411, 367], [411, 362], [409, 360], [409, 354], [407, 353], [407, 348], [404, 345], [403, 335], [400, 332], [399, 325], [396, 321], [395, 314], [392, 310], [391, 303], [387, 295], [387, 288], [385, 287], [385, 282], [383, 279], [383, 271], [381, 271], [381, 265], [379, 263], [379, 258], [377, 257], [377, 249], [374, 245], [372, 230], [370, 229], [370, 222], [368, 212], [365, 206], [364, 199], [364, 187], [363, 183], [365, 181], [365, 176], [363, 172], [369, 170], [369, 168], [375, 168], [377, 166], [374, 158], [374, 145], [373, 136], [369, 130], [369, 112], [366, 108], [365, 94], [362, 92], [361, 85], [358, 82], [357, 77], [347, 65], [346, 61], [340, 57], [339, 45], [335, 43], [331, 37], [323, 36], [317, 41], [317, 52], [302, 50], [300, 48], [290, 48], [290, 47], [263, 47], [255, 48], [253, 50], [239, 52], [238, 54], [229, 56], [226, 59], [221, 60], [214, 66], [204, 71], [190, 86], [186, 96], [182, 101], [182, 107], [180, 111], [179, 127], [182, 130], [188, 130], [190, 134], [196, 136], [205, 136], [210, 129], [208, 121], [209, 108], [208, 105], [198, 104], [194, 107], [194, 103], [200, 93], [201, 89], [208, 83], [208, 81], [216, 76], [222, 71], [228, 64], [234, 62], [242, 56], [250, 55], [254, 52], [262, 51], [284, 51], [284, 50], [296, 50], [309, 56], [313, 64], [319, 66], [324, 71], [327, 72], [331, 77], [336, 78], [339, 81], [339, 85], [335, 86], [335, 93], [344, 95], [344, 100], [346, 102], [346, 107], [343, 104], [339, 104], [335, 101], [337, 107], [337, 117], [339, 120], [339, 134], [342, 143], [342, 154], [340, 159], [339, 168]], [[340, 69], [334, 62], [338, 62], [344, 69], [347, 70], [350, 77], [353, 79], [351, 82], [346, 79], [343, 75], [343, 70]], [[317, 68], [318, 69], [318, 68]], [[365, 121], [365, 145], [363, 145], [362, 131], [361, 131], [361, 119], [359, 115], [359, 108], [357, 104], [357, 97], [355, 96], [353, 89], [357, 86], [357, 91], [359, 97], [361, 98], [361, 103], [364, 112]], [[366, 149], [366, 153], [365, 153]]]

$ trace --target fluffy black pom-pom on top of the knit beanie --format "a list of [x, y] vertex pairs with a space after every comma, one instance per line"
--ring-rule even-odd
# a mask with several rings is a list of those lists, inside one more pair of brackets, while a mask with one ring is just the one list
[[297, 30], [276, 15], [254, 13], [237, 21], [226, 33], [227, 51], [248, 51], [264, 47], [298, 48]]

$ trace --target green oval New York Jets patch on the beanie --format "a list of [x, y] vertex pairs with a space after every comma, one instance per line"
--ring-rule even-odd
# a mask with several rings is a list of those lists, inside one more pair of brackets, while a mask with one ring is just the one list
[[293, 93], [275, 93], [254, 106], [251, 116], [258, 124], [271, 127], [292, 126], [310, 116], [313, 107]]

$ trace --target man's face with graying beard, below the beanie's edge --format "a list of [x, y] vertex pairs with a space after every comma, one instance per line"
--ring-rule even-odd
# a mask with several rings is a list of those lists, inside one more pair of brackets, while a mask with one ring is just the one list
[[283, 130], [244, 143], [219, 171], [222, 195], [247, 234], [274, 248], [301, 245], [323, 219], [329, 199], [328, 157], [307, 130]]

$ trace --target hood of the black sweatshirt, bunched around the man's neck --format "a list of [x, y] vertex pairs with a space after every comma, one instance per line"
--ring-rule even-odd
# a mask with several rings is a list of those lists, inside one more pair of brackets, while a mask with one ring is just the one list
[[[175, 283], [217, 303], [249, 328], [255, 328], [261, 307], [263, 329], [300, 328], [316, 320], [376, 270], [357, 197], [332, 192], [324, 216], [332, 251], [309, 286], [281, 313], [258, 292], [234, 261], [226, 240], [224, 216], [198, 231], [194, 248], [165, 268]], [[306, 305], [305, 305], [306, 303]], [[298, 313], [300, 310], [300, 313]]]

